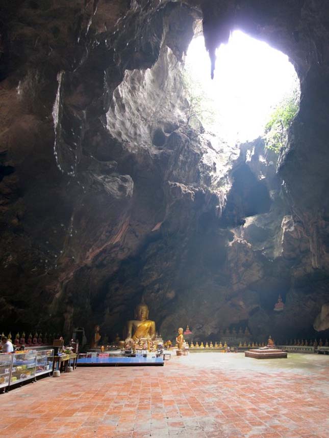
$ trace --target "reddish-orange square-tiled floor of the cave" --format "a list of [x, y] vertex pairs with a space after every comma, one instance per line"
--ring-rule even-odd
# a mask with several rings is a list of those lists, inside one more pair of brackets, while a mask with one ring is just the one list
[[0, 395], [1, 438], [328, 438], [329, 357], [193, 353], [78, 368]]

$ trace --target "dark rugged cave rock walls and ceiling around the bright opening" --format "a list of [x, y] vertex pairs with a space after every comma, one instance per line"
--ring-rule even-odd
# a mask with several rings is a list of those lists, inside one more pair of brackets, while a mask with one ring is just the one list
[[[83, 327], [89, 345], [98, 326], [111, 344], [143, 302], [173, 342], [187, 325], [194, 342], [328, 338], [328, 15], [316, 0], [4, 0], [0, 330]], [[279, 153], [187, 123], [191, 40], [213, 77], [235, 30], [298, 75]]]

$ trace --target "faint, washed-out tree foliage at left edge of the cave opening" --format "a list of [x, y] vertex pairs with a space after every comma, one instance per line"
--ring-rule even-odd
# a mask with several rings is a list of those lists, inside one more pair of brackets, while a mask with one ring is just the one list
[[183, 71], [183, 86], [188, 102], [186, 124], [195, 128], [201, 122], [210, 128], [215, 120], [214, 100], [207, 95], [201, 82], [193, 78], [188, 67]]

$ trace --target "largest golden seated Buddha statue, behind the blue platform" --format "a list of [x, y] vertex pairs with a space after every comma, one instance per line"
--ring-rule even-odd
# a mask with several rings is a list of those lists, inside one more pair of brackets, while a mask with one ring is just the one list
[[135, 309], [135, 319], [128, 321], [126, 328], [126, 340], [139, 341], [140, 339], [154, 340], [156, 337], [156, 323], [148, 318], [148, 307], [141, 303]]

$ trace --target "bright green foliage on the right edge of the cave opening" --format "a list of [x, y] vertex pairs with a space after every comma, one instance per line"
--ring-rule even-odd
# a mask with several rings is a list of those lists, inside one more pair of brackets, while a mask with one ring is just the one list
[[299, 108], [298, 80], [289, 94], [277, 105], [265, 125], [265, 145], [279, 154], [287, 141], [288, 129]]

